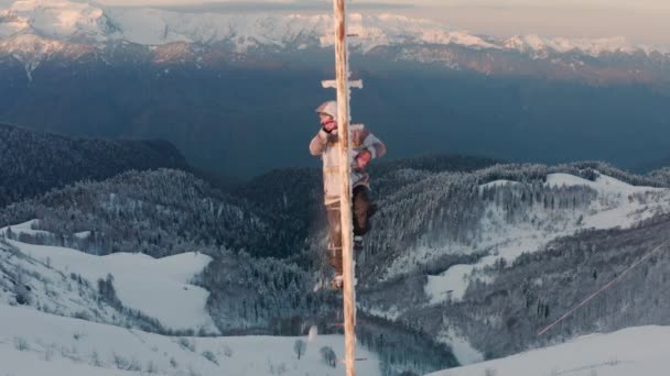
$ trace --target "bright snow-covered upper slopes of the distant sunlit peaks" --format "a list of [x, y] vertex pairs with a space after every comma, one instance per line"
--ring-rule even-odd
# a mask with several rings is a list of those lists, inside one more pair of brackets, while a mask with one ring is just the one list
[[[0, 7], [2, 4], [0, 3]], [[0, 8], [0, 40], [35, 34], [52, 40], [123, 40], [142, 45], [173, 42], [226, 42], [238, 52], [250, 47], [293, 47], [331, 45], [333, 21], [328, 14], [223, 14], [186, 13], [158, 9], [102, 8], [84, 1], [20, 0]], [[623, 37], [603, 40], [514, 36], [507, 41], [482, 37], [440, 23], [395, 14], [352, 14], [349, 32], [358, 34], [350, 44], [364, 52], [376, 46], [399, 44], [454, 44], [471, 48], [532, 52], [581, 52], [597, 56], [607, 52], [650, 51], [634, 46]], [[13, 43], [10, 43], [13, 46]], [[6, 49], [7, 46], [0, 48]]]

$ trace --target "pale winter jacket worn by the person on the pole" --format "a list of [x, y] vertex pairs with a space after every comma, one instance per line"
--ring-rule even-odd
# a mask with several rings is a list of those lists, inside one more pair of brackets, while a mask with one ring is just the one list
[[[370, 176], [364, 168], [356, 165], [356, 156], [367, 150], [372, 158], [378, 158], [386, 154], [386, 145], [379, 141], [363, 124], [352, 124], [349, 126], [352, 139], [349, 141], [349, 163], [352, 164], [352, 188], [358, 186], [370, 187]], [[323, 129], [312, 139], [310, 153], [321, 155], [323, 161], [323, 189], [324, 202], [331, 204], [339, 201], [339, 146], [337, 130], [331, 133]]]

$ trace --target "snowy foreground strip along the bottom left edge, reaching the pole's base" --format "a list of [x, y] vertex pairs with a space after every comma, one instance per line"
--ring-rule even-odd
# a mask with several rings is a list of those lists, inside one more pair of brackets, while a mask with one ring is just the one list
[[[342, 356], [344, 338], [236, 336], [172, 338], [138, 330], [43, 313], [0, 303], [0, 375], [2, 376], [326, 376], [344, 374], [331, 367], [320, 349], [331, 346]], [[298, 360], [293, 346], [303, 340], [306, 352]], [[359, 375], [377, 376], [377, 357], [357, 349]]]

